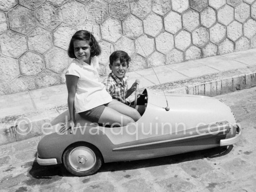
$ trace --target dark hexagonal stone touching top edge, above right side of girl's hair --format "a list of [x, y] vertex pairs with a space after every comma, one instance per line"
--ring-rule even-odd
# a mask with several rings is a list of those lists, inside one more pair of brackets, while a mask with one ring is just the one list
[[101, 24], [108, 18], [108, 3], [102, 0], [92, 0], [85, 6], [86, 18]]

